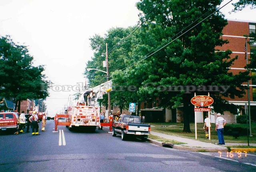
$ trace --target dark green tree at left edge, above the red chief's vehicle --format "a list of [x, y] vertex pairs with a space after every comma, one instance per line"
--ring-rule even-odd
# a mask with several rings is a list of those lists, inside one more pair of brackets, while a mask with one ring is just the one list
[[25, 45], [14, 43], [10, 36], [0, 38], [0, 97], [12, 99], [17, 106], [22, 100], [48, 96], [44, 66], [33, 66], [32, 61]]

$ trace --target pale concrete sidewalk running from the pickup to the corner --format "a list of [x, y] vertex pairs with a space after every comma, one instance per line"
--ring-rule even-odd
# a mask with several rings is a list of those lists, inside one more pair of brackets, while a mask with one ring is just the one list
[[207, 142], [201, 142], [198, 140], [193, 140], [190, 138], [183, 138], [183, 137], [178, 137], [178, 136], [172, 136], [168, 134], [162, 134], [160, 132], [150, 132], [152, 135], [159, 136], [162, 138], [166, 138], [169, 140], [176, 140], [178, 142], [184, 142], [186, 144], [179, 144], [179, 145], [174, 145], [174, 148], [178, 149], [183, 149], [183, 150], [192, 150], [192, 151], [198, 151], [198, 150], [207, 150], [207, 151], [223, 151], [226, 150], [227, 148], [224, 146], [220, 146], [217, 144], [212, 144], [212, 143], [207, 143]]

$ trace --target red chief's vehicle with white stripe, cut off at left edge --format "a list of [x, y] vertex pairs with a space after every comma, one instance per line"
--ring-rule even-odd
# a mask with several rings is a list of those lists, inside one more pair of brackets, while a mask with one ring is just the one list
[[0, 130], [14, 130], [19, 128], [19, 116], [15, 112], [0, 113]]

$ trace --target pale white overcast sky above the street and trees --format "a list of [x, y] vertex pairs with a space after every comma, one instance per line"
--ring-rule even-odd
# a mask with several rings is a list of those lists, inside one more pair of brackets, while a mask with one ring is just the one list
[[[224, 0], [222, 4], [229, 0]], [[68, 97], [85, 83], [86, 62], [93, 56], [89, 38], [104, 35], [112, 27], [137, 24], [138, 0], [0, 0], [0, 36], [27, 45], [34, 65], [44, 65], [52, 81], [46, 99], [48, 115], [61, 113]], [[236, 0], [233, 0], [236, 2]], [[229, 14], [232, 4], [222, 8], [226, 19], [256, 22], [256, 9], [249, 7]], [[74, 91], [67, 91], [71, 85]], [[58, 91], [62, 87], [62, 91]]]

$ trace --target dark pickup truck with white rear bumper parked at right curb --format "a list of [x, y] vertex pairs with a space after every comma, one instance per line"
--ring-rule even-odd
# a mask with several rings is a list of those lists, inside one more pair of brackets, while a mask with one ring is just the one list
[[137, 136], [143, 140], [148, 138], [150, 134], [150, 125], [142, 124], [140, 117], [132, 115], [123, 115], [118, 121], [114, 122], [112, 136], [121, 134], [122, 140], [126, 140], [127, 136]]

